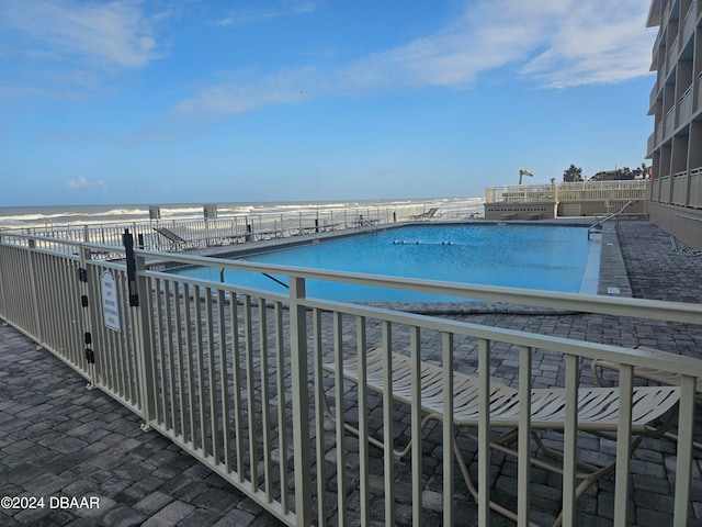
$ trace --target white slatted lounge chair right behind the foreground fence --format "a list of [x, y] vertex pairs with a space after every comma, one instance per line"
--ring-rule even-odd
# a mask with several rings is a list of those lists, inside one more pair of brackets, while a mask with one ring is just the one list
[[[384, 385], [383, 355], [381, 348], [369, 350], [366, 356], [366, 383], [372, 390], [382, 393]], [[393, 397], [405, 404], [411, 405], [411, 363], [408, 357], [392, 354], [392, 378]], [[324, 369], [335, 373], [333, 363], [325, 363]], [[358, 363], [355, 359], [350, 359], [343, 363], [343, 378], [355, 383], [359, 382]], [[554, 389], [532, 389], [531, 400], [531, 427], [533, 430], [556, 430], [563, 431], [565, 423], [565, 397], [566, 390]], [[421, 365], [421, 407], [426, 417], [422, 421], [422, 428], [429, 421], [443, 419], [443, 380], [440, 367], [422, 362]], [[477, 436], [469, 430], [478, 424], [478, 378], [454, 372], [454, 425], [467, 437], [477, 440]], [[680, 389], [676, 386], [641, 386], [633, 392], [632, 407], [632, 450], [635, 449], [645, 436], [659, 437], [675, 423], [676, 408], [680, 397]], [[327, 411], [332, 419], [335, 416], [325, 401]], [[519, 391], [503, 384], [490, 382], [490, 426], [495, 428], [508, 428], [512, 431], [500, 436], [491, 442], [491, 447], [508, 455], [517, 456], [517, 450], [512, 444], [517, 438], [513, 431], [519, 427]], [[618, 388], [580, 388], [578, 390], [578, 429], [612, 439], [607, 433], [616, 431], [619, 423], [619, 389]], [[669, 418], [660, 427], [655, 427], [652, 423], [665, 415]], [[346, 428], [356, 435], [359, 430], [350, 424], [344, 424]], [[532, 435], [540, 448], [545, 453], [558, 457], [557, 452], [547, 449], [536, 434]], [[369, 440], [381, 448], [383, 442], [369, 437]], [[408, 445], [401, 451], [395, 451], [397, 458], [406, 456], [411, 448]], [[477, 501], [478, 490], [471, 480], [463, 456], [454, 446], [456, 460], [461, 472], [473, 497]], [[541, 468], [545, 468], [561, 473], [558, 466], [544, 462], [542, 459], [532, 458], [532, 462]], [[576, 500], [595, 482], [608, 476], [614, 471], [614, 463], [607, 467], [592, 467], [578, 463], [582, 472], [578, 474], [580, 483], [576, 490]], [[490, 502], [490, 508], [517, 520], [517, 515], [506, 507]], [[562, 514], [556, 519], [555, 525], [561, 524]]]

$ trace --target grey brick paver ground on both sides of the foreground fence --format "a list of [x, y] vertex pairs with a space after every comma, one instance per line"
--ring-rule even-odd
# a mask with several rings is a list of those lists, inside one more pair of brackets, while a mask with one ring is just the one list
[[[604, 287], [620, 287], [621, 294], [629, 288], [629, 294], [636, 298], [702, 303], [702, 257], [673, 251], [670, 236], [645, 221], [620, 222], [619, 239], [621, 266], [608, 269], [605, 255], [602, 256], [601, 277], [609, 274], [607, 280], [611, 280], [611, 285]], [[632, 319], [625, 313], [607, 316], [498, 311], [445, 316], [590, 341], [645, 345], [702, 358], [702, 325]], [[349, 332], [353, 330], [349, 327]], [[498, 357], [496, 367], [503, 378], [513, 373], [508, 356]], [[547, 365], [544, 372], [554, 382], [564, 374]], [[700, 415], [697, 431], [701, 437]], [[435, 430], [429, 430], [427, 441], [437, 437], [440, 435]], [[670, 525], [666, 511], [670, 509], [672, 494], [661, 481], [671, 472], [661, 456], [671, 448], [667, 441], [647, 439], [635, 452], [632, 525]], [[9, 326], [0, 327], [0, 496], [99, 498], [99, 508], [0, 509], [2, 526], [282, 525], [158, 433], [141, 431], [135, 414], [99, 390], [86, 390], [82, 377]], [[597, 458], [600, 452], [592, 450], [588, 455]], [[431, 456], [426, 457], [432, 462]], [[702, 526], [700, 453], [692, 474], [689, 525]], [[553, 495], [554, 487], [547, 483], [534, 484], [532, 492], [537, 501]], [[496, 487], [509, 492], [510, 485], [514, 487], [516, 479], [506, 471], [498, 476]], [[579, 502], [578, 525], [608, 525], [613, 482], [603, 481], [591, 491]], [[464, 525], [473, 525], [468, 519], [473, 502], [463, 497], [463, 490], [461, 493], [457, 503], [465, 513]], [[435, 505], [435, 511], [430, 508], [427, 525], [440, 525], [441, 502], [432, 502], [430, 491], [427, 497], [429, 506]], [[400, 498], [397, 507], [398, 524], [409, 525], [409, 498]], [[492, 519], [495, 525], [511, 525], [502, 524], [497, 515]], [[541, 519], [534, 518], [539, 523]], [[547, 520], [547, 516], [543, 519]]]

